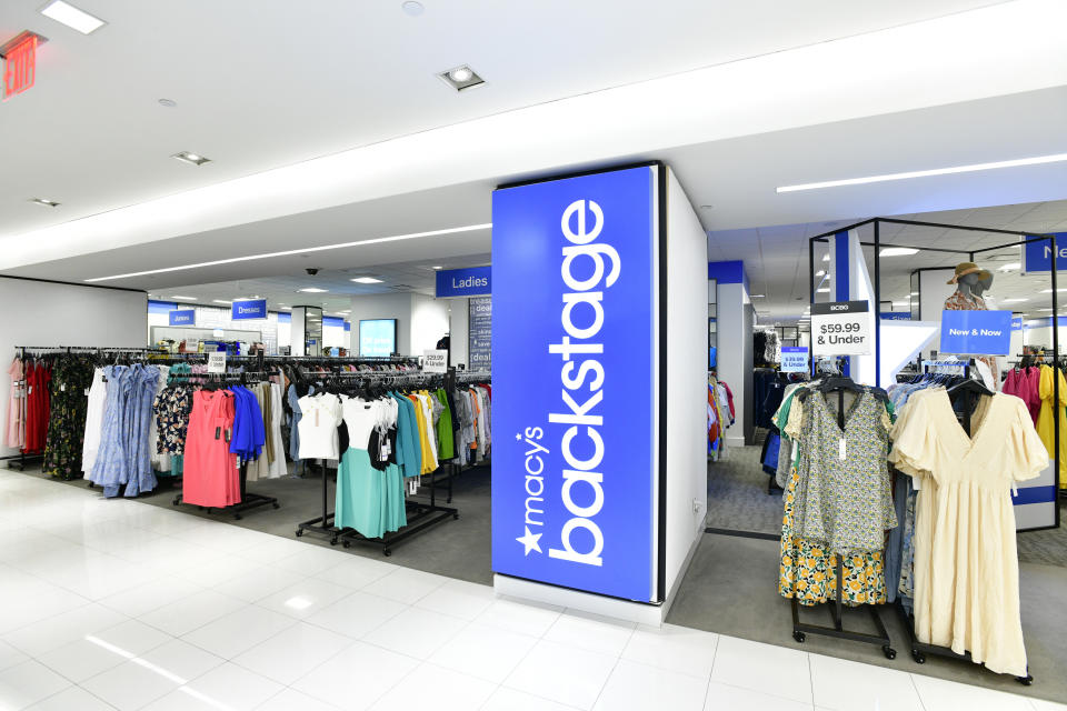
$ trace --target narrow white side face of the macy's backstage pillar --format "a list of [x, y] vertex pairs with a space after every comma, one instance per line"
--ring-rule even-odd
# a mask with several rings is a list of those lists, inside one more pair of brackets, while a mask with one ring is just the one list
[[708, 239], [685, 190], [669, 169], [667, 180], [667, 362], [661, 367], [667, 368], [667, 589], [664, 594], [669, 600], [685, 572], [694, 542], [704, 532], [708, 497], [705, 457], [708, 349], [707, 337], [695, 337], [708, 329], [705, 301]]

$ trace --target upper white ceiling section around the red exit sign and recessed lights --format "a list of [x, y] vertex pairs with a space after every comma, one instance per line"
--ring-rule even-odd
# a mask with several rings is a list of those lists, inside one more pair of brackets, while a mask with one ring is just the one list
[[[0, 233], [610, 87], [817, 44], [994, 0], [73, 0], [82, 36], [0, 3], [0, 38], [30, 29], [37, 83], [0, 107]], [[488, 81], [457, 94], [436, 73]], [[163, 108], [158, 99], [178, 102]], [[521, 140], [521, 137], [516, 137]], [[169, 158], [213, 160], [193, 168]], [[44, 209], [27, 202], [47, 197]]]

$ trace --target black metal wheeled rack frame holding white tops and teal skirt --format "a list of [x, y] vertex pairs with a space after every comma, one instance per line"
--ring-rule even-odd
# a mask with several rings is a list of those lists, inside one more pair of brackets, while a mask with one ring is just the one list
[[[426, 372], [408, 372], [408, 373], [387, 373], [387, 372], [373, 372], [373, 371], [362, 371], [362, 372], [340, 372], [329, 374], [327, 380], [341, 379], [352, 379], [352, 380], [363, 380], [367, 385], [381, 384], [383, 381], [395, 384], [429, 384], [431, 381], [439, 378], [447, 378], [448, 373], [426, 373]], [[447, 381], [446, 381], [447, 382]], [[343, 455], [343, 452], [340, 452]], [[296, 537], [302, 538], [305, 534], [318, 535], [327, 539], [330, 542], [330, 545], [337, 545], [340, 542], [345, 548], [351, 548], [352, 543], [367, 543], [371, 545], [381, 547], [381, 552], [385, 555], [392, 555], [392, 547], [425, 531], [436, 523], [441, 521], [452, 519], [456, 520], [459, 518], [459, 509], [452, 507], [442, 507], [437, 503], [437, 480], [438, 472], [442, 468], [438, 468], [437, 471], [430, 472], [430, 500], [429, 502], [417, 501], [410, 498], [407, 498], [405, 501], [405, 507], [407, 511], [407, 524], [399, 531], [392, 531], [386, 533], [381, 538], [367, 538], [361, 533], [355, 531], [353, 529], [339, 529], [333, 525], [333, 512], [330, 511], [329, 503], [329, 477], [330, 469], [327, 468], [327, 460], [320, 459], [320, 465], [322, 468], [322, 515], [316, 517], [308, 521], [303, 521], [297, 524]], [[336, 477], [336, 470], [335, 470]], [[422, 477], [420, 475], [420, 479]], [[452, 500], [452, 472], [449, 470], [448, 475], [448, 501]]]

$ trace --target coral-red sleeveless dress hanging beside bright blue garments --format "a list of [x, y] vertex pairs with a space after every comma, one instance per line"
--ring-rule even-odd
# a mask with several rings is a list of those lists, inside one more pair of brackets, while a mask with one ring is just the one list
[[222, 508], [240, 502], [237, 454], [230, 453], [232, 432], [233, 394], [226, 390], [195, 392], [181, 484], [186, 503]]

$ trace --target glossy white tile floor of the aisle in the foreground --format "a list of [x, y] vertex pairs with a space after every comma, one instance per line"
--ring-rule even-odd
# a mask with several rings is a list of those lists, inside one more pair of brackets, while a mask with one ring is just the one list
[[0, 711], [417, 708], [1067, 710], [523, 604], [0, 470]]

